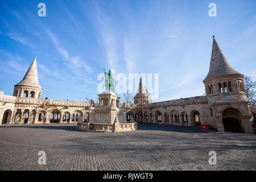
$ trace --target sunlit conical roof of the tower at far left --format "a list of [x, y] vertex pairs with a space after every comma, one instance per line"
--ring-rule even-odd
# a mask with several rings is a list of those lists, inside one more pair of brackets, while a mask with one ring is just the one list
[[36, 56], [32, 64], [30, 65], [30, 68], [28, 68], [28, 71], [26, 75], [23, 77], [22, 81], [20, 81], [15, 86], [32, 86], [41, 88], [38, 82], [38, 69], [36, 68]]

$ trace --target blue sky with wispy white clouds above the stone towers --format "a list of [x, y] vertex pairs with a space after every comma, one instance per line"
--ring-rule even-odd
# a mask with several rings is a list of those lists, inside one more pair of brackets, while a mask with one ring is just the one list
[[[212, 2], [216, 17], [208, 15]], [[212, 35], [232, 67], [256, 80], [254, 0], [2, 0], [0, 21], [0, 90], [9, 95], [36, 55], [42, 97], [96, 98], [104, 68], [159, 73], [154, 101], [201, 96]]]

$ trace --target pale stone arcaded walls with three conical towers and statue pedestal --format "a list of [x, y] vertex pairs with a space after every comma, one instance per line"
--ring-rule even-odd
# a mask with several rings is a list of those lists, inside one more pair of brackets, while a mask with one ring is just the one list
[[14, 86], [13, 96], [0, 92], [0, 125], [78, 122], [78, 130], [119, 132], [135, 130], [136, 122], [147, 122], [192, 127], [210, 124], [218, 131], [253, 133], [243, 77], [232, 68], [213, 36], [209, 73], [203, 80], [206, 96], [149, 103], [141, 79], [134, 105], [126, 114], [113, 92], [99, 94], [98, 104], [41, 99], [35, 57], [23, 80]]

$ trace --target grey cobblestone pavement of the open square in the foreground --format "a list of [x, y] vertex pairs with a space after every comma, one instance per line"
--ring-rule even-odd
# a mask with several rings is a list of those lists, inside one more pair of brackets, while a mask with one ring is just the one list
[[[130, 133], [76, 131], [72, 124], [2, 125], [0, 170], [255, 170], [256, 135], [138, 125]], [[46, 151], [46, 165], [38, 152]], [[217, 152], [210, 165], [209, 151]]]

